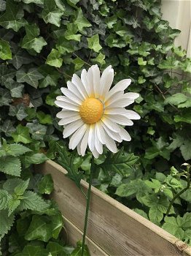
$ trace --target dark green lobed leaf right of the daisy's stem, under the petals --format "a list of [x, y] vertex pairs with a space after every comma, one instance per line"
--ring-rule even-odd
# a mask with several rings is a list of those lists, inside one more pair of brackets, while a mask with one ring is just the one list
[[99, 167], [103, 168], [106, 172], [113, 171], [114, 173], [125, 175], [131, 170], [132, 166], [138, 161], [139, 157], [134, 154], [128, 154], [120, 149], [116, 154], [109, 154], [106, 160]]

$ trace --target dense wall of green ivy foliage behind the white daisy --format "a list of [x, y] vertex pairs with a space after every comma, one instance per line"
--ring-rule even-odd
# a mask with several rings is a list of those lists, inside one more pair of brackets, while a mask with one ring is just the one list
[[[187, 186], [174, 167], [191, 159], [191, 61], [174, 46], [179, 32], [162, 19], [159, 0], [0, 0], [0, 132], [27, 146], [26, 167], [54, 159], [62, 138], [54, 105], [61, 86], [91, 64], [112, 64], [114, 83], [130, 78], [130, 91], [140, 94], [132, 108], [141, 120], [128, 129], [132, 141], [117, 156], [106, 151], [98, 159], [95, 185], [189, 242], [189, 192], [163, 219], [174, 194]], [[19, 176], [17, 154], [6, 157], [17, 162]], [[90, 154], [72, 157], [88, 174]]]

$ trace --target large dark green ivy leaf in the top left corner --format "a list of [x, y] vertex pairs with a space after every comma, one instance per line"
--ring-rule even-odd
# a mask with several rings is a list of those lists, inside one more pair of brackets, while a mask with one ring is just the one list
[[23, 16], [24, 12], [20, 5], [15, 4], [12, 0], [7, 0], [6, 12], [0, 16], [0, 25], [5, 29], [13, 29], [17, 32], [22, 26], [28, 24]]

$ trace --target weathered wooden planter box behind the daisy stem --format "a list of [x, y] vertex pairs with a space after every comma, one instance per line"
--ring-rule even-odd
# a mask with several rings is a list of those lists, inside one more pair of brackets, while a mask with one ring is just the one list
[[[52, 198], [65, 219], [69, 244], [82, 239], [85, 197], [66, 170], [51, 160], [36, 165], [36, 171], [51, 173], [55, 184]], [[82, 181], [87, 191], [88, 184]], [[92, 188], [86, 244], [92, 256], [181, 256], [191, 255], [191, 247], [172, 236], [112, 197]]]

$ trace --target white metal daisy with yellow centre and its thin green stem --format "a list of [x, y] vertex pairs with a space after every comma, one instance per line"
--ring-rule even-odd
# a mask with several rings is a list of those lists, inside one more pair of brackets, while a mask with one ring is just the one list
[[81, 78], [74, 74], [67, 82], [68, 88], [61, 88], [64, 96], [58, 96], [55, 100], [55, 105], [62, 108], [57, 117], [61, 118], [58, 124], [64, 126], [63, 138], [71, 136], [69, 148], [77, 147], [78, 154], [84, 156], [88, 146], [93, 154], [81, 255], [85, 246], [93, 159], [103, 153], [104, 145], [116, 153], [115, 141], [130, 141], [130, 135], [122, 126], [132, 126], [132, 120], [140, 118], [133, 110], [126, 109], [139, 97], [139, 94], [124, 92], [131, 80], [121, 80], [111, 89], [113, 79], [112, 66], [104, 69], [101, 75], [98, 65], [93, 65], [87, 71], [82, 70]]

